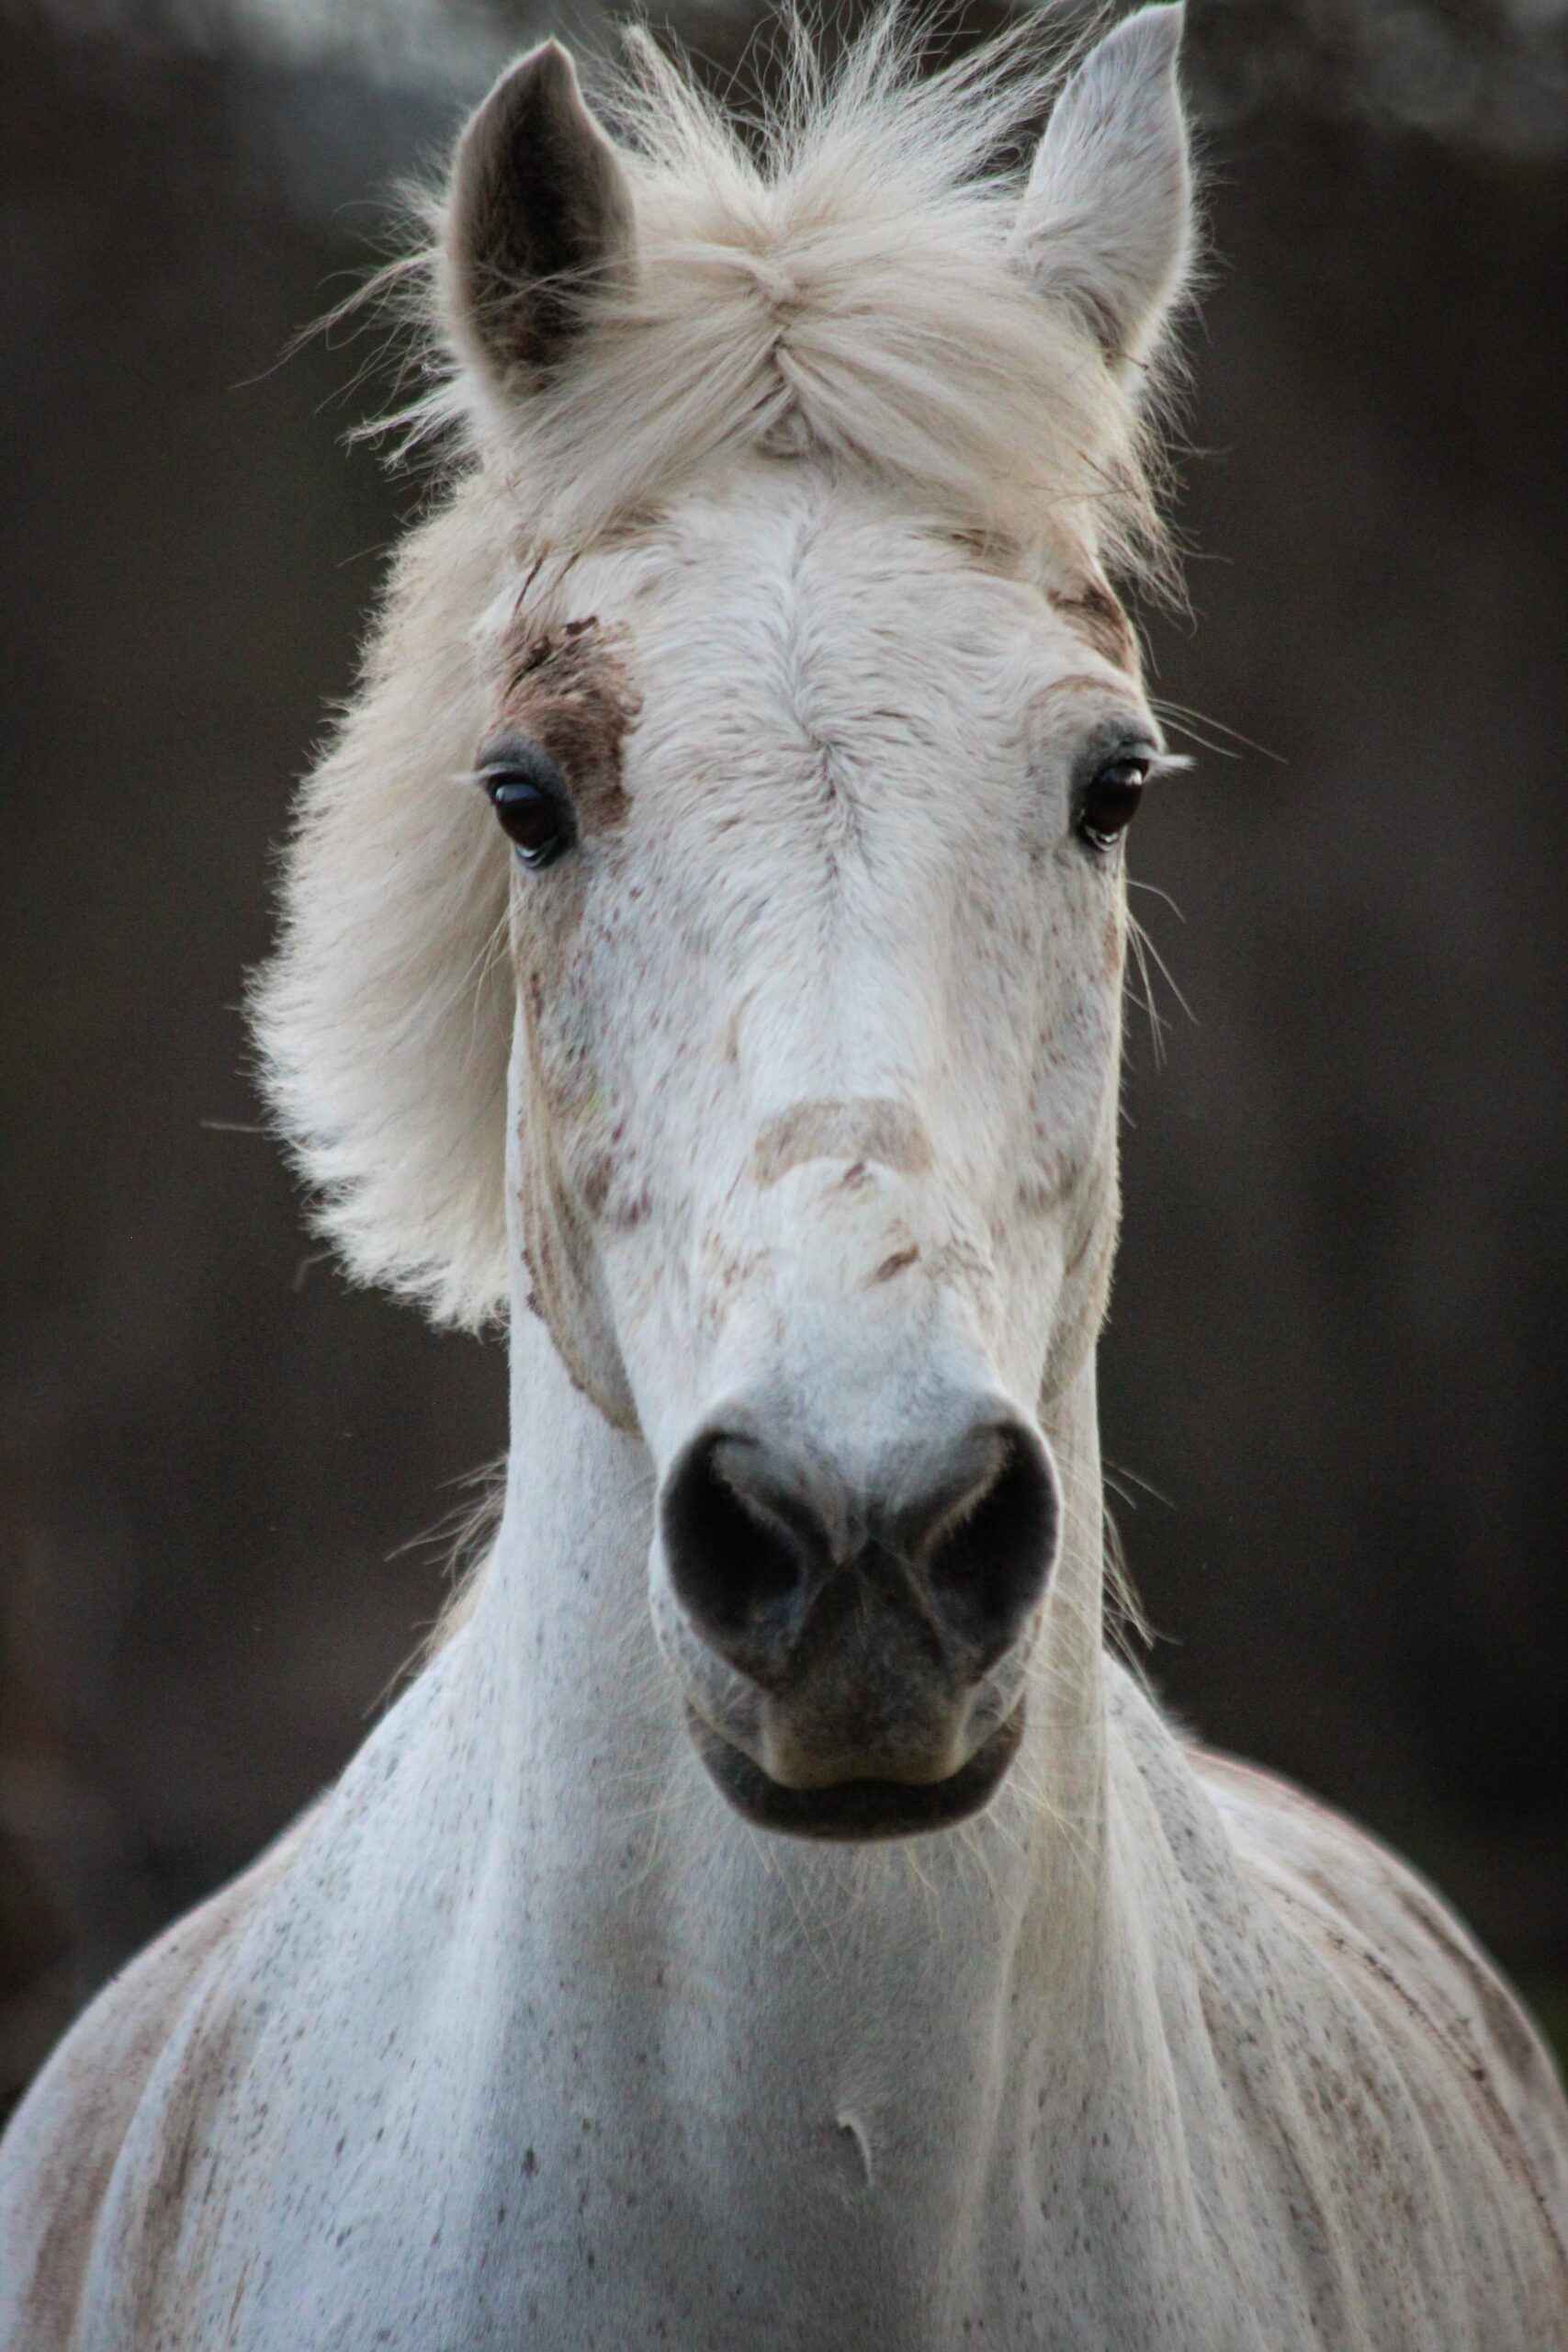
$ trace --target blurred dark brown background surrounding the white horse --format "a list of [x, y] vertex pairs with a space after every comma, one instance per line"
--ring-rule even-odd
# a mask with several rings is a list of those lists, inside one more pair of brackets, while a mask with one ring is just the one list
[[[722, 66], [757, 12], [677, 21]], [[402, 1545], [503, 1442], [498, 1348], [315, 1256], [235, 1002], [416, 499], [339, 447], [364, 348], [280, 353], [581, 24], [0, 14], [0, 2105], [339, 1769], [440, 1604]], [[1164, 1068], [1133, 1023], [1107, 1456], [1173, 1705], [1554, 2013], [1568, 7], [1192, 0], [1190, 59], [1220, 268], [1152, 637], [1218, 748], [1133, 851], [1192, 1018], [1157, 983]]]

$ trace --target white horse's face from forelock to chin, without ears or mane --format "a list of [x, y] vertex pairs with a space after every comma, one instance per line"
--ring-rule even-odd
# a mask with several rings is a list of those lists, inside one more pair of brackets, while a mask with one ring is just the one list
[[1074, 619], [755, 463], [496, 647], [531, 1298], [654, 1449], [705, 1762], [804, 1835], [954, 1820], [1020, 1731], [1159, 757]]

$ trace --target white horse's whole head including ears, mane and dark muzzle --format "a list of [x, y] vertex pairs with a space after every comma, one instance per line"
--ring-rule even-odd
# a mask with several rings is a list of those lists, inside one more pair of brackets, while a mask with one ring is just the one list
[[799, 1835], [990, 1797], [1065, 1541], [1166, 764], [1110, 581], [1178, 26], [1103, 40], [1013, 176], [997, 61], [891, 38], [764, 160], [649, 49], [618, 141], [555, 45], [496, 85], [433, 249], [465, 473], [263, 1007], [355, 1263], [449, 1312], [510, 1268], [642, 1432], [691, 1733]]

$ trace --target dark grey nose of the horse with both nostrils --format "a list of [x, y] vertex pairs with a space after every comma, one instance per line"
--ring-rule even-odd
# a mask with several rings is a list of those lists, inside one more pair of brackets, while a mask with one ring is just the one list
[[743, 1421], [708, 1428], [672, 1465], [661, 1529], [693, 1630], [764, 1689], [806, 1672], [875, 1595], [964, 1684], [1039, 1604], [1058, 1501], [1041, 1439], [992, 1399], [933, 1442], [905, 1442], [884, 1477]]

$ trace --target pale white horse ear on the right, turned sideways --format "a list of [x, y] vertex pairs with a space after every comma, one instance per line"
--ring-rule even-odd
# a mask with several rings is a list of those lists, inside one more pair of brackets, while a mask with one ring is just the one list
[[1112, 367], [1150, 358], [1192, 261], [1180, 38], [1180, 7], [1145, 7], [1088, 52], [1018, 202], [1018, 266]]

